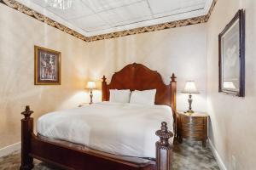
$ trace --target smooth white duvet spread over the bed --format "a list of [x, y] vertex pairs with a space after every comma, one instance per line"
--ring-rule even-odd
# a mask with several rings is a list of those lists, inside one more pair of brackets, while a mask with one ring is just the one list
[[120, 156], [154, 158], [159, 140], [154, 133], [163, 121], [172, 131], [172, 109], [166, 105], [102, 102], [41, 116], [38, 133]]

